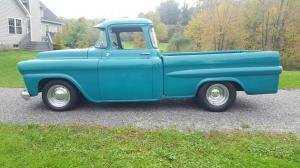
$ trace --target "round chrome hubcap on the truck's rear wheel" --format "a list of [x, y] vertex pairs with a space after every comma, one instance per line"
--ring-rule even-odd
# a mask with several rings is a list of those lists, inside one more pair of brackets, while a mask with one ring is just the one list
[[229, 99], [229, 91], [223, 84], [214, 84], [207, 89], [206, 98], [210, 104], [222, 106]]

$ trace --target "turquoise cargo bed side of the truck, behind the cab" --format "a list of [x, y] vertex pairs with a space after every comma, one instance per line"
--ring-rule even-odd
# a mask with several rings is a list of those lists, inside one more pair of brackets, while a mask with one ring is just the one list
[[194, 97], [207, 81], [230, 81], [247, 94], [276, 93], [282, 71], [276, 51], [178, 52], [162, 59], [167, 97]]

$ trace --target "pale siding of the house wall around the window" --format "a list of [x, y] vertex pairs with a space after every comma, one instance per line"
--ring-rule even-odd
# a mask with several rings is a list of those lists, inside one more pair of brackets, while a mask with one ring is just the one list
[[[27, 34], [28, 18], [15, 0], [0, 0], [0, 16], [0, 49], [13, 48]], [[9, 34], [8, 18], [22, 20], [22, 34]]]

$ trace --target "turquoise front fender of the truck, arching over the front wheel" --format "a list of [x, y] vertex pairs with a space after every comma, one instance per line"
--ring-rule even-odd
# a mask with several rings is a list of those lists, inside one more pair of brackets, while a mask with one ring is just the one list
[[98, 79], [99, 59], [33, 60], [19, 63], [26, 87], [32, 96], [38, 94], [43, 79], [66, 79], [91, 101], [100, 99]]

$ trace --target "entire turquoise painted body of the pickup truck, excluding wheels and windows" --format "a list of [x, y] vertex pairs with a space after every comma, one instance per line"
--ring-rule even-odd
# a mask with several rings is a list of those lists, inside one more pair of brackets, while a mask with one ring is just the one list
[[[140, 26], [145, 49], [111, 47], [112, 26]], [[18, 64], [31, 96], [43, 79], [65, 79], [89, 101], [157, 101], [194, 97], [206, 82], [231, 81], [247, 94], [276, 93], [282, 72], [275, 51], [208, 51], [160, 54], [151, 44], [147, 19], [105, 21], [96, 27], [107, 32], [106, 49], [42, 52]]]

